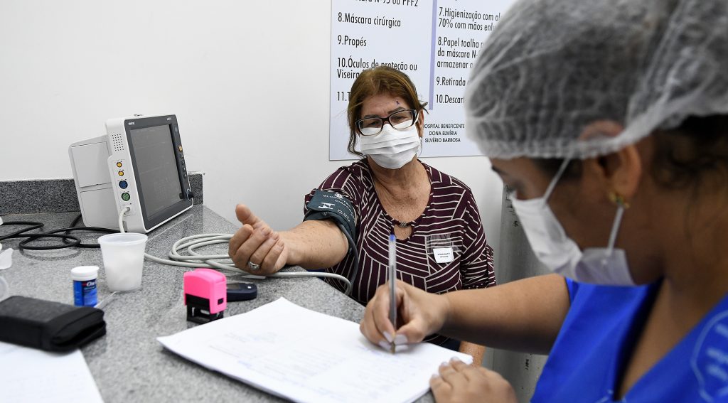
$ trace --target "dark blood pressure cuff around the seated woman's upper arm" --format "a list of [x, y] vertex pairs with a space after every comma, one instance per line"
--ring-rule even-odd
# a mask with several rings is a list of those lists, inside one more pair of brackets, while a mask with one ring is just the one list
[[[357, 223], [354, 206], [344, 195], [334, 191], [314, 191], [314, 196], [306, 204], [304, 221], [332, 219], [344, 227], [351, 239], [357, 239]], [[351, 242], [349, 242], [351, 243]], [[352, 250], [356, 245], [350, 244]]]

